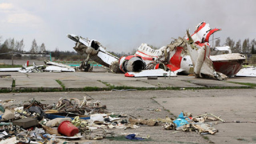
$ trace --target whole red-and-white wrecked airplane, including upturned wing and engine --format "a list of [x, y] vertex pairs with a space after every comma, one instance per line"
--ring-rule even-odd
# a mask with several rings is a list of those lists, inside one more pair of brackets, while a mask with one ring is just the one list
[[88, 71], [89, 59], [111, 69], [112, 72], [123, 72], [127, 77], [175, 76], [177, 73], [191, 74], [200, 78], [224, 80], [233, 76], [242, 68], [245, 56], [237, 53], [210, 55], [210, 36], [221, 29], [211, 29], [202, 22], [196, 26], [194, 34], [186, 31], [186, 37], [174, 39], [167, 46], [158, 50], [141, 44], [134, 55], [118, 58], [106, 51], [97, 40], [68, 34], [76, 42], [74, 50], [86, 55], [79, 69]]

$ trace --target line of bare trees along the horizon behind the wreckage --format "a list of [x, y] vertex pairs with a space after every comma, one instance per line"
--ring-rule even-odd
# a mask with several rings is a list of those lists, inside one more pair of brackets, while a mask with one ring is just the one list
[[[7, 53], [7, 52], [23, 52], [24, 51], [24, 43], [22, 40], [15, 40], [14, 38], [7, 38], [6, 40], [2, 41], [2, 37], [0, 36], [0, 53]], [[256, 50], [254, 46], [256, 45], [256, 40], [252, 39], [249, 40], [249, 38], [244, 39], [242, 42], [240, 39], [235, 42], [230, 37], [226, 38], [226, 41], [224, 42], [224, 45], [230, 46], [232, 53], [243, 53], [243, 54], [256, 54]], [[215, 41], [214, 46], [221, 46], [220, 39]], [[157, 49], [154, 46], [150, 46], [154, 49]], [[136, 52], [136, 48], [132, 49], [131, 52], [110, 52], [111, 54], [114, 54], [115, 56], [121, 57], [121, 56], [127, 56], [127, 55], [133, 55]], [[30, 46], [29, 52], [36, 53], [36, 52], [51, 52], [52, 57], [55, 57], [55, 59], [84, 59], [83, 56], [80, 56], [77, 52], [74, 51], [60, 51], [58, 47], [55, 48], [55, 50], [46, 50], [46, 46], [44, 43], [41, 45], [38, 45], [36, 40], [34, 39], [32, 41], [32, 44]], [[19, 56], [19, 55], [16, 55]], [[10, 54], [4, 54], [0, 56], [1, 59], [10, 59]]]

